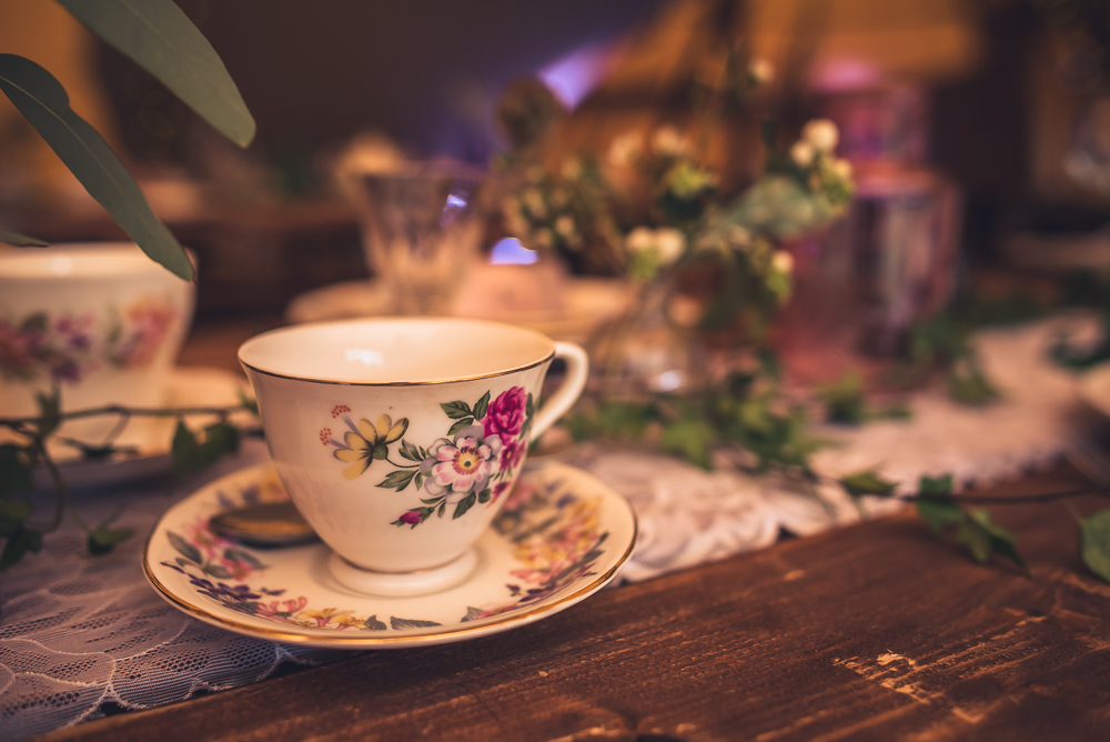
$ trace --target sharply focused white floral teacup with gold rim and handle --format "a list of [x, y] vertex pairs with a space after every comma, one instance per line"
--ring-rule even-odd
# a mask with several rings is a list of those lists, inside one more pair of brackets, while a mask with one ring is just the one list
[[[552, 360], [566, 375], [541, 407]], [[333, 575], [384, 595], [464, 580], [528, 444], [586, 382], [585, 352], [507, 324], [398, 318], [304, 324], [239, 359], [297, 509]]]

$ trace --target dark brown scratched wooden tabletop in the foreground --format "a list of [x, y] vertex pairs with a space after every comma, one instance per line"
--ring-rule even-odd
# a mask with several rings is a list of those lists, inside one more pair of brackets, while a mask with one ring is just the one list
[[[1084, 484], [1061, 464], [993, 492]], [[992, 514], [1031, 578], [907, 511], [43, 739], [1110, 740], [1110, 585], [1061, 503]]]

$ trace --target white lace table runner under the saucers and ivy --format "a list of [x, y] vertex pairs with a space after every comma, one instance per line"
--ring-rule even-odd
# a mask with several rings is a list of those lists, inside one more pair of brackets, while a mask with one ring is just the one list
[[[1047, 360], [1046, 348], [1070, 327], [1052, 320], [981, 334], [978, 349], [1003, 400], [981, 410], [924, 392], [908, 421], [858, 429], [823, 429], [838, 445], [816, 455], [830, 477], [875, 467], [911, 487], [922, 474], [952, 472], [961, 483], [1019, 474], [1059, 455], [1081, 434], [1074, 379]], [[78, 529], [53, 533], [0, 582], [0, 739], [18, 740], [120, 709], [148, 709], [198, 691], [243, 685], [283, 662], [316, 664], [336, 650], [240, 636], [193, 620], [162, 601], [140, 566], [143, 538], [178, 498], [204, 481], [264, 460], [261, 444], [176, 493], [158, 487], [78, 497], [85, 520], [98, 522], [127, 503], [120, 524], [139, 534], [114, 553], [85, 555]], [[735, 471], [704, 472], [630, 450], [584, 447], [571, 462], [589, 469], [636, 508], [640, 535], [626, 581], [644, 580], [773, 543], [780, 530], [799, 535], [860, 518], [837, 490], [821, 499], [786, 483]], [[868, 499], [868, 514], [897, 503]]]

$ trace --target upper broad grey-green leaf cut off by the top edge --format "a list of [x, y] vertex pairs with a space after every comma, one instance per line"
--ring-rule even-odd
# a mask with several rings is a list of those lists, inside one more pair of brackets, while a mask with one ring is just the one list
[[212, 44], [171, 0], [58, 0], [240, 147], [255, 124]]

